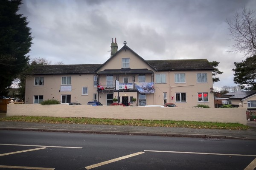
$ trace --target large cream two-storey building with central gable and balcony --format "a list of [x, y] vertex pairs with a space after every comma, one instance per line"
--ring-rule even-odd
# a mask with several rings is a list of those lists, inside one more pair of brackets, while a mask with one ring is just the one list
[[214, 108], [213, 67], [207, 59], [145, 60], [126, 42], [117, 49], [112, 39], [111, 57], [103, 64], [34, 66], [27, 72], [25, 103], [54, 98], [63, 104], [111, 105], [119, 96], [119, 102], [134, 106], [169, 102]]

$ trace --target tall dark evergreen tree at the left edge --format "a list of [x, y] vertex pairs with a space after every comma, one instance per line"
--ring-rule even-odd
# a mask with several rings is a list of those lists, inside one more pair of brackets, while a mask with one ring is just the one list
[[21, 0], [0, 0], [0, 96], [27, 67], [32, 37], [26, 17], [17, 14]]

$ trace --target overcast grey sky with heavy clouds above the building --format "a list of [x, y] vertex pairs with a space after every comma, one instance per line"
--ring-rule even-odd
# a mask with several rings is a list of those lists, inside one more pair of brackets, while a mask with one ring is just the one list
[[101, 64], [111, 38], [145, 60], [208, 59], [223, 71], [215, 88], [235, 86], [226, 19], [256, 0], [23, 0], [33, 44], [29, 56], [64, 64]]

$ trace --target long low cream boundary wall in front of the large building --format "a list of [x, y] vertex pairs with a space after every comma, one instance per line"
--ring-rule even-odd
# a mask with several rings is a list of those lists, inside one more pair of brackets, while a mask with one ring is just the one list
[[246, 125], [245, 108], [160, 108], [91, 105], [9, 104], [7, 116], [93, 117], [113, 119], [230, 122]]

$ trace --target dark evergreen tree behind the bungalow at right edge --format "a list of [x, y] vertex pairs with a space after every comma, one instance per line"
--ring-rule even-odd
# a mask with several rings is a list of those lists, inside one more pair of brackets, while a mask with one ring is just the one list
[[242, 62], [234, 62], [234, 65], [234, 82], [244, 90], [256, 90], [256, 55]]

